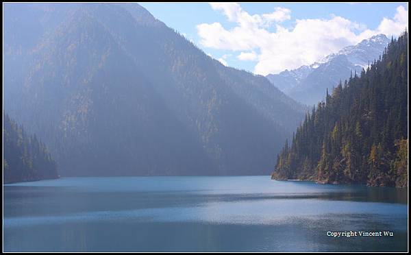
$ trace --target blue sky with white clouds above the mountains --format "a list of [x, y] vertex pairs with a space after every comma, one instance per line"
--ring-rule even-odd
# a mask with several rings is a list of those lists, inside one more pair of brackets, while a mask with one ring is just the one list
[[261, 75], [408, 28], [408, 3], [140, 3], [222, 64]]

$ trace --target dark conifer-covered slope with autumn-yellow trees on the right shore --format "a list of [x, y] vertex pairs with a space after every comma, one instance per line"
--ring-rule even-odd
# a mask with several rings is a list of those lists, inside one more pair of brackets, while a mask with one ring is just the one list
[[407, 186], [408, 33], [307, 114], [272, 178]]

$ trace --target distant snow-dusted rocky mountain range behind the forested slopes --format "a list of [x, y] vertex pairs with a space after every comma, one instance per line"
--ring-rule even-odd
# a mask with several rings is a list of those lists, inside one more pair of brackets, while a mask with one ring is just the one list
[[358, 45], [345, 47], [309, 66], [266, 77], [286, 95], [312, 106], [325, 99], [327, 88], [331, 92], [340, 80], [344, 82], [349, 78], [351, 72], [361, 73], [363, 68], [377, 60], [388, 42], [390, 40], [384, 34], [379, 34], [362, 40]]

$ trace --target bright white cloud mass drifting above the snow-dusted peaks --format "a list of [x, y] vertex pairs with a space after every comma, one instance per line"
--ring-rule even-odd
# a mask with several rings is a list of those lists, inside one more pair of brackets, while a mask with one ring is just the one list
[[[251, 15], [238, 3], [210, 3], [213, 10], [222, 11], [228, 21], [236, 23], [225, 29], [221, 23], [197, 25], [203, 47], [241, 51], [237, 58], [257, 60], [254, 72], [262, 75], [296, 69], [354, 45], [375, 34], [398, 35], [408, 26], [408, 10], [400, 5], [393, 19], [384, 18], [377, 29], [367, 29], [340, 16], [329, 19], [297, 19], [294, 27], [281, 25], [291, 19], [291, 11], [275, 8], [268, 14]], [[275, 27], [270, 32], [267, 27]], [[255, 52], [259, 51], [257, 55]], [[221, 58], [220, 62], [225, 58]]]

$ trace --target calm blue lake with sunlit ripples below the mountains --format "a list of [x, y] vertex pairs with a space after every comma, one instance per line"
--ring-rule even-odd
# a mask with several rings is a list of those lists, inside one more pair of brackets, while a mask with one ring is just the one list
[[[406, 252], [407, 189], [269, 176], [3, 186], [5, 252]], [[331, 232], [393, 236], [330, 236]]]

